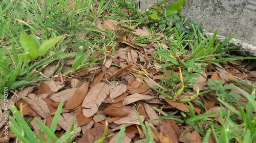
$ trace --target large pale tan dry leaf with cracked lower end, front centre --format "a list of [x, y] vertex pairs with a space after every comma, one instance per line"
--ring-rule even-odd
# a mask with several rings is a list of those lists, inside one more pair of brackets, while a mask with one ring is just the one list
[[105, 83], [96, 84], [89, 91], [86, 98], [82, 102], [82, 110], [84, 117], [92, 117], [97, 111], [98, 107], [101, 105], [101, 102], [105, 100], [106, 95], [109, 95], [109, 86]]

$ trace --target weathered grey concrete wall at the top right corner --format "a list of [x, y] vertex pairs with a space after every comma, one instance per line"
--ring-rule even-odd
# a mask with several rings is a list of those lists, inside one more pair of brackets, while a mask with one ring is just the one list
[[[156, 3], [140, 1], [140, 9]], [[175, 2], [175, 0], [169, 0]], [[256, 46], [256, 0], [186, 0], [181, 12], [189, 19], [201, 21], [203, 30], [219, 35], [236, 35], [236, 39]]]

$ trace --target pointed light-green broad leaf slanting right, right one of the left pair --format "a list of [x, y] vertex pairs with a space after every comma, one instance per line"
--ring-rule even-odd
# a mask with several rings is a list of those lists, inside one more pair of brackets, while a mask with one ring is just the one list
[[55, 38], [46, 40], [42, 43], [42, 45], [37, 49], [38, 56], [46, 54], [46, 52], [55, 44], [57, 44], [63, 36], [57, 36]]

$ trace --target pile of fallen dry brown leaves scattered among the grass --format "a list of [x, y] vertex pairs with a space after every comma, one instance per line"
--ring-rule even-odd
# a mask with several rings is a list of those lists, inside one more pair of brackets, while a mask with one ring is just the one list
[[[106, 46], [106, 55], [93, 49], [92, 54], [95, 59], [104, 61], [103, 64], [92, 64], [89, 67], [81, 68], [69, 76], [55, 73], [55, 64], [45, 67], [44, 76], [49, 77], [49, 81], [40, 81], [30, 87], [19, 89], [9, 100], [9, 106], [22, 107], [24, 118], [32, 118], [30, 125], [38, 135], [38, 126], [35, 119], [40, 120], [50, 127], [54, 113], [61, 99], [65, 100], [61, 116], [58, 120], [55, 134], [61, 136], [65, 131], [69, 131], [73, 122], [76, 128], [81, 127], [81, 131], [73, 136], [73, 141], [93, 142], [100, 138], [104, 132], [105, 122], [109, 123], [109, 137], [105, 142], [115, 142], [120, 127], [126, 127], [122, 142], [142, 142], [145, 137], [135, 110], [139, 112], [142, 121], [150, 123], [154, 139], [157, 142], [201, 142], [202, 137], [191, 127], [176, 123], [173, 120], [155, 120], [161, 117], [154, 108], [163, 109], [167, 113], [180, 110], [189, 112], [188, 105], [173, 101], [159, 95], [150, 87], [142, 84], [141, 81], [158, 88], [163, 88], [157, 82], [163, 77], [171, 78], [169, 73], [161, 72], [161, 66], [154, 62], [152, 53], [160, 43], [154, 42], [146, 46], [140, 46], [133, 41], [134, 36], [150, 37], [149, 30], [145, 27], [137, 27], [132, 30], [129, 26], [121, 25], [116, 20], [102, 22], [98, 20], [97, 26], [100, 30], [126, 30], [127, 33], [118, 37], [119, 45], [114, 47], [114, 52], [110, 52], [112, 45]], [[164, 35], [159, 32], [159, 38], [164, 39]], [[102, 36], [104, 39], [105, 37]], [[90, 39], [90, 38], [89, 38]], [[164, 48], [169, 47], [162, 44]], [[89, 49], [90, 50], [90, 49]], [[74, 60], [67, 60], [63, 71], [70, 69]], [[53, 62], [54, 63], [54, 62]], [[224, 70], [212, 68], [209, 64], [202, 72], [202, 76], [196, 78], [196, 85], [205, 85], [207, 78], [212, 80], [223, 80], [231, 83], [230, 79], [255, 78], [253, 74], [244, 74], [238, 69], [241, 63], [225, 65]], [[179, 73], [179, 67], [169, 67]], [[252, 83], [250, 81], [250, 83]], [[252, 83], [253, 84], [253, 83]], [[239, 84], [237, 84], [239, 85]], [[180, 86], [180, 85], [179, 85]], [[249, 89], [239, 85], [247, 92]], [[193, 91], [194, 92], [194, 91]], [[186, 96], [185, 93], [181, 94]], [[218, 112], [220, 106], [217, 97], [210, 92], [200, 98], [209, 112]], [[245, 98], [240, 98], [243, 102], [248, 102]], [[22, 105], [22, 106], [21, 106]], [[196, 102], [193, 102], [196, 114], [206, 111]], [[180, 118], [180, 117], [177, 117]], [[218, 117], [208, 119], [215, 124], [219, 124]], [[9, 131], [9, 137], [14, 137]], [[47, 136], [45, 136], [47, 137]], [[214, 142], [212, 137], [209, 142]]]

